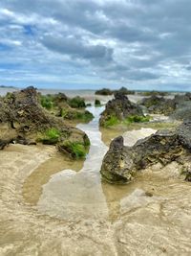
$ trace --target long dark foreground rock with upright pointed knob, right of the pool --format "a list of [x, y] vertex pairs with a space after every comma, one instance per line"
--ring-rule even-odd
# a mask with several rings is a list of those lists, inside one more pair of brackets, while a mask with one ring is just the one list
[[[123, 138], [117, 137], [110, 145], [101, 166], [101, 175], [111, 183], [126, 183], [138, 170], [161, 163], [163, 166], [181, 157], [190, 157], [191, 123], [186, 122], [176, 130], [159, 130], [151, 136], [138, 140], [133, 147], [125, 147]], [[188, 162], [188, 161], [187, 161]], [[184, 161], [182, 161], [184, 168]], [[186, 167], [187, 180], [191, 166]]]

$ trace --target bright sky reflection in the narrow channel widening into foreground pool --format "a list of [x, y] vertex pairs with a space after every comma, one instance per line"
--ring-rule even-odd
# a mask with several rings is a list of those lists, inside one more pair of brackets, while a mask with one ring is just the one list
[[91, 140], [91, 148], [80, 172], [72, 168], [53, 175], [43, 186], [43, 194], [38, 201], [38, 209], [53, 217], [78, 220], [81, 218], [107, 218], [107, 201], [100, 182], [102, 157], [108, 150], [101, 141], [98, 129], [99, 114], [103, 107], [89, 107], [95, 119], [89, 124], [81, 124]]

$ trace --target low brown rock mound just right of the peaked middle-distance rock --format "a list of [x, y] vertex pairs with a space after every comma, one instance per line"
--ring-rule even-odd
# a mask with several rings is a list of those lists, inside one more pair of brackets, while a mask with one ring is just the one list
[[176, 102], [171, 99], [165, 99], [153, 95], [149, 98], [144, 98], [139, 103], [147, 107], [149, 113], [169, 115], [176, 109]]

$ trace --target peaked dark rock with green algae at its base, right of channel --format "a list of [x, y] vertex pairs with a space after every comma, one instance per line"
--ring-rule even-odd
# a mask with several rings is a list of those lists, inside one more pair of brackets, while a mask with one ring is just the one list
[[117, 92], [115, 99], [109, 101], [105, 110], [101, 113], [99, 119], [100, 127], [107, 127], [110, 120], [122, 121], [129, 116], [144, 117], [141, 108], [129, 101], [129, 99], [122, 93]]

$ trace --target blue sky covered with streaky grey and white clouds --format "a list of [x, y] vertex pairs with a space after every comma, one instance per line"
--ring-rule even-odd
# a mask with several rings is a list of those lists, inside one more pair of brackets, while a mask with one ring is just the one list
[[0, 84], [191, 91], [191, 1], [0, 0]]

